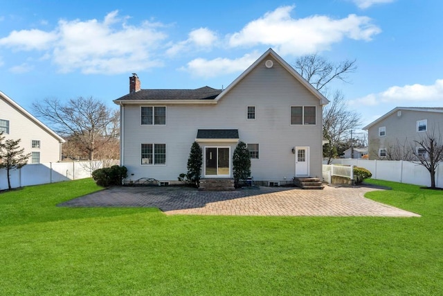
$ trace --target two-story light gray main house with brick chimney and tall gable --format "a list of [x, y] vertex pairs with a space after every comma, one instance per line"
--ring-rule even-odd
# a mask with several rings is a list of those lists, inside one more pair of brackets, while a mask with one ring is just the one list
[[136, 74], [120, 105], [120, 163], [127, 182], [177, 182], [190, 147], [204, 153], [202, 177], [233, 177], [233, 152], [247, 143], [255, 182], [322, 175], [327, 99], [272, 49], [226, 89], [141, 89]]

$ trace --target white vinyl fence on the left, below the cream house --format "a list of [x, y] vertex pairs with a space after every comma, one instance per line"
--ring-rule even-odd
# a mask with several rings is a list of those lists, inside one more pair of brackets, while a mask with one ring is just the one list
[[[118, 164], [118, 160], [112, 164]], [[107, 164], [109, 162], [107, 161]], [[10, 171], [11, 187], [30, 186], [78, 180], [91, 177], [92, 171], [102, 168], [103, 162], [48, 162], [45, 164], [26, 164], [19, 170]], [[6, 170], [0, 170], [0, 190], [8, 189]]]

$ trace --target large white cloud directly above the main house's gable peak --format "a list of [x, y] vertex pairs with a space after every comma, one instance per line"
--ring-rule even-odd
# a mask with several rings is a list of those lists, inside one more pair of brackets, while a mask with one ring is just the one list
[[304, 55], [330, 48], [344, 38], [370, 41], [381, 29], [369, 17], [348, 15], [343, 19], [314, 15], [293, 19], [295, 6], [282, 6], [246, 24], [242, 31], [228, 36], [232, 47], [265, 44], [280, 54]]

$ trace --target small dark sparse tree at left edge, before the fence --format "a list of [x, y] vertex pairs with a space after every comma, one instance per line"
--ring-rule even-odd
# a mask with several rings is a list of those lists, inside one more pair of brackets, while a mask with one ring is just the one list
[[25, 166], [31, 154], [24, 154], [25, 148], [20, 149], [19, 143], [21, 139], [8, 139], [3, 143], [5, 137], [2, 135], [3, 132], [0, 132], [0, 168], [6, 168], [8, 189], [12, 189], [10, 171]]

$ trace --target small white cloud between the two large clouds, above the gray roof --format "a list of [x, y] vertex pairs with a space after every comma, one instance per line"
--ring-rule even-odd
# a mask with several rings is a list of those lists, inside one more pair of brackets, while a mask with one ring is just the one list
[[188, 39], [174, 44], [166, 51], [168, 55], [177, 55], [190, 49], [210, 49], [217, 42], [217, 35], [208, 28], [198, 28], [189, 33]]

